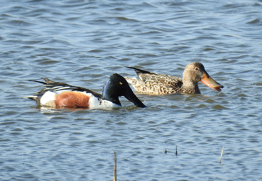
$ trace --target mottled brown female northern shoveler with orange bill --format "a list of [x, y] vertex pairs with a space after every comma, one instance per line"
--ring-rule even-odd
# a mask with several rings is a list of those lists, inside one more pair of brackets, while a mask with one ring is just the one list
[[139, 79], [135, 77], [125, 77], [125, 79], [134, 87], [135, 91], [145, 94], [162, 95], [176, 92], [201, 94], [198, 88], [199, 81], [219, 92], [224, 87], [212, 79], [203, 64], [199, 62], [190, 63], [185, 67], [183, 79], [133, 67], [127, 68], [134, 69]]

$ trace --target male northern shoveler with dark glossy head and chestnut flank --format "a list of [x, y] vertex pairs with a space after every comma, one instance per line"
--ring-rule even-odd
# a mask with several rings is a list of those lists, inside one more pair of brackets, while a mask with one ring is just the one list
[[26, 97], [36, 101], [38, 105], [74, 108], [115, 108], [121, 107], [118, 97], [125, 96], [137, 107], [146, 107], [133, 93], [125, 78], [117, 73], [108, 78], [102, 94], [86, 88], [54, 82], [47, 78], [42, 79], [45, 82], [30, 81], [42, 83], [46, 88], [33, 96]]

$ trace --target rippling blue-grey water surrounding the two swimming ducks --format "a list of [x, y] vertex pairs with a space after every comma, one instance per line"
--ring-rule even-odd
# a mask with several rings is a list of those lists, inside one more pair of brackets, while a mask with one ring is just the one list
[[[262, 1], [0, 2], [1, 180], [261, 180]], [[182, 77], [200, 61], [217, 92], [137, 94], [114, 110], [53, 109], [27, 80], [101, 92], [123, 66]], [[176, 155], [176, 146], [178, 155]], [[222, 147], [224, 153], [219, 163]], [[167, 149], [167, 154], [164, 150]]]

